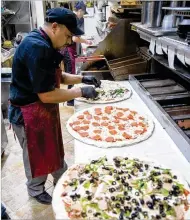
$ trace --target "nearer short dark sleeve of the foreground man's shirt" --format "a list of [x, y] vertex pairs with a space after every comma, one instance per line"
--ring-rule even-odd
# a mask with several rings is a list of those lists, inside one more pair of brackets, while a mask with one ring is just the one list
[[56, 85], [56, 68], [51, 48], [46, 45], [30, 45], [27, 47], [24, 60], [28, 68], [33, 93], [53, 91]]

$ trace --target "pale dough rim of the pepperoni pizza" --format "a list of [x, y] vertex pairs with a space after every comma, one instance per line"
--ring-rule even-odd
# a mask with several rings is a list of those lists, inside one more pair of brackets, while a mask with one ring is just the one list
[[[84, 111], [91, 111], [95, 108], [96, 107], [88, 108], [88, 109], [85, 109], [85, 110], [82, 110], [82, 111], [75, 113], [73, 116], [71, 116], [69, 118], [69, 120], [67, 121], [67, 124], [66, 124], [66, 128], [67, 128], [68, 132], [75, 139], [77, 139], [85, 144], [94, 145], [94, 146], [100, 147], [100, 148], [125, 147], [125, 146], [133, 145], [133, 144], [136, 144], [136, 143], [139, 143], [141, 141], [148, 139], [154, 131], [154, 122], [151, 119], [149, 119], [148, 116], [145, 116], [145, 117], [143, 116], [146, 119], [146, 122], [148, 123], [149, 128], [147, 129], [146, 133], [144, 133], [143, 135], [139, 136], [136, 139], [119, 141], [119, 142], [106, 142], [106, 141], [95, 141], [90, 138], [83, 138], [77, 132], [75, 132], [69, 124], [72, 123], [74, 121], [74, 119], [77, 118], [77, 116], [83, 114]], [[102, 108], [104, 108], [104, 107], [102, 107]]]

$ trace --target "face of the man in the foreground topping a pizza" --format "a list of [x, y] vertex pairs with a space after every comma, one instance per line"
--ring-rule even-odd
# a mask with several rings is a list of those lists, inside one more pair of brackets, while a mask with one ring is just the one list
[[72, 43], [72, 34], [66, 26], [53, 23], [52, 32], [53, 45], [55, 49], [60, 50], [66, 46], [69, 46]]

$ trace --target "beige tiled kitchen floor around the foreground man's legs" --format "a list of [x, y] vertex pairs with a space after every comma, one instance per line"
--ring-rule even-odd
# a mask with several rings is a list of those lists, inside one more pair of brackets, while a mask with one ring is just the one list
[[[74, 163], [74, 141], [67, 132], [65, 124], [73, 113], [73, 107], [60, 104], [65, 160], [69, 166]], [[5, 205], [8, 215], [11, 219], [54, 219], [51, 205], [42, 205], [28, 195], [22, 149], [15, 140], [12, 129], [9, 130], [8, 123], [6, 128], [9, 142], [4, 156], [1, 158], [1, 201]], [[50, 195], [54, 189], [52, 181], [53, 179], [49, 175], [45, 187]]]

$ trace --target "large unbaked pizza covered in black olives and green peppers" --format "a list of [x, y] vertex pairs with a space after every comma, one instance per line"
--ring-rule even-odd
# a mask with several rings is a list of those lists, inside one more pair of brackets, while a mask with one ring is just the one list
[[189, 188], [170, 169], [106, 157], [69, 168], [53, 195], [62, 219], [187, 219]]

